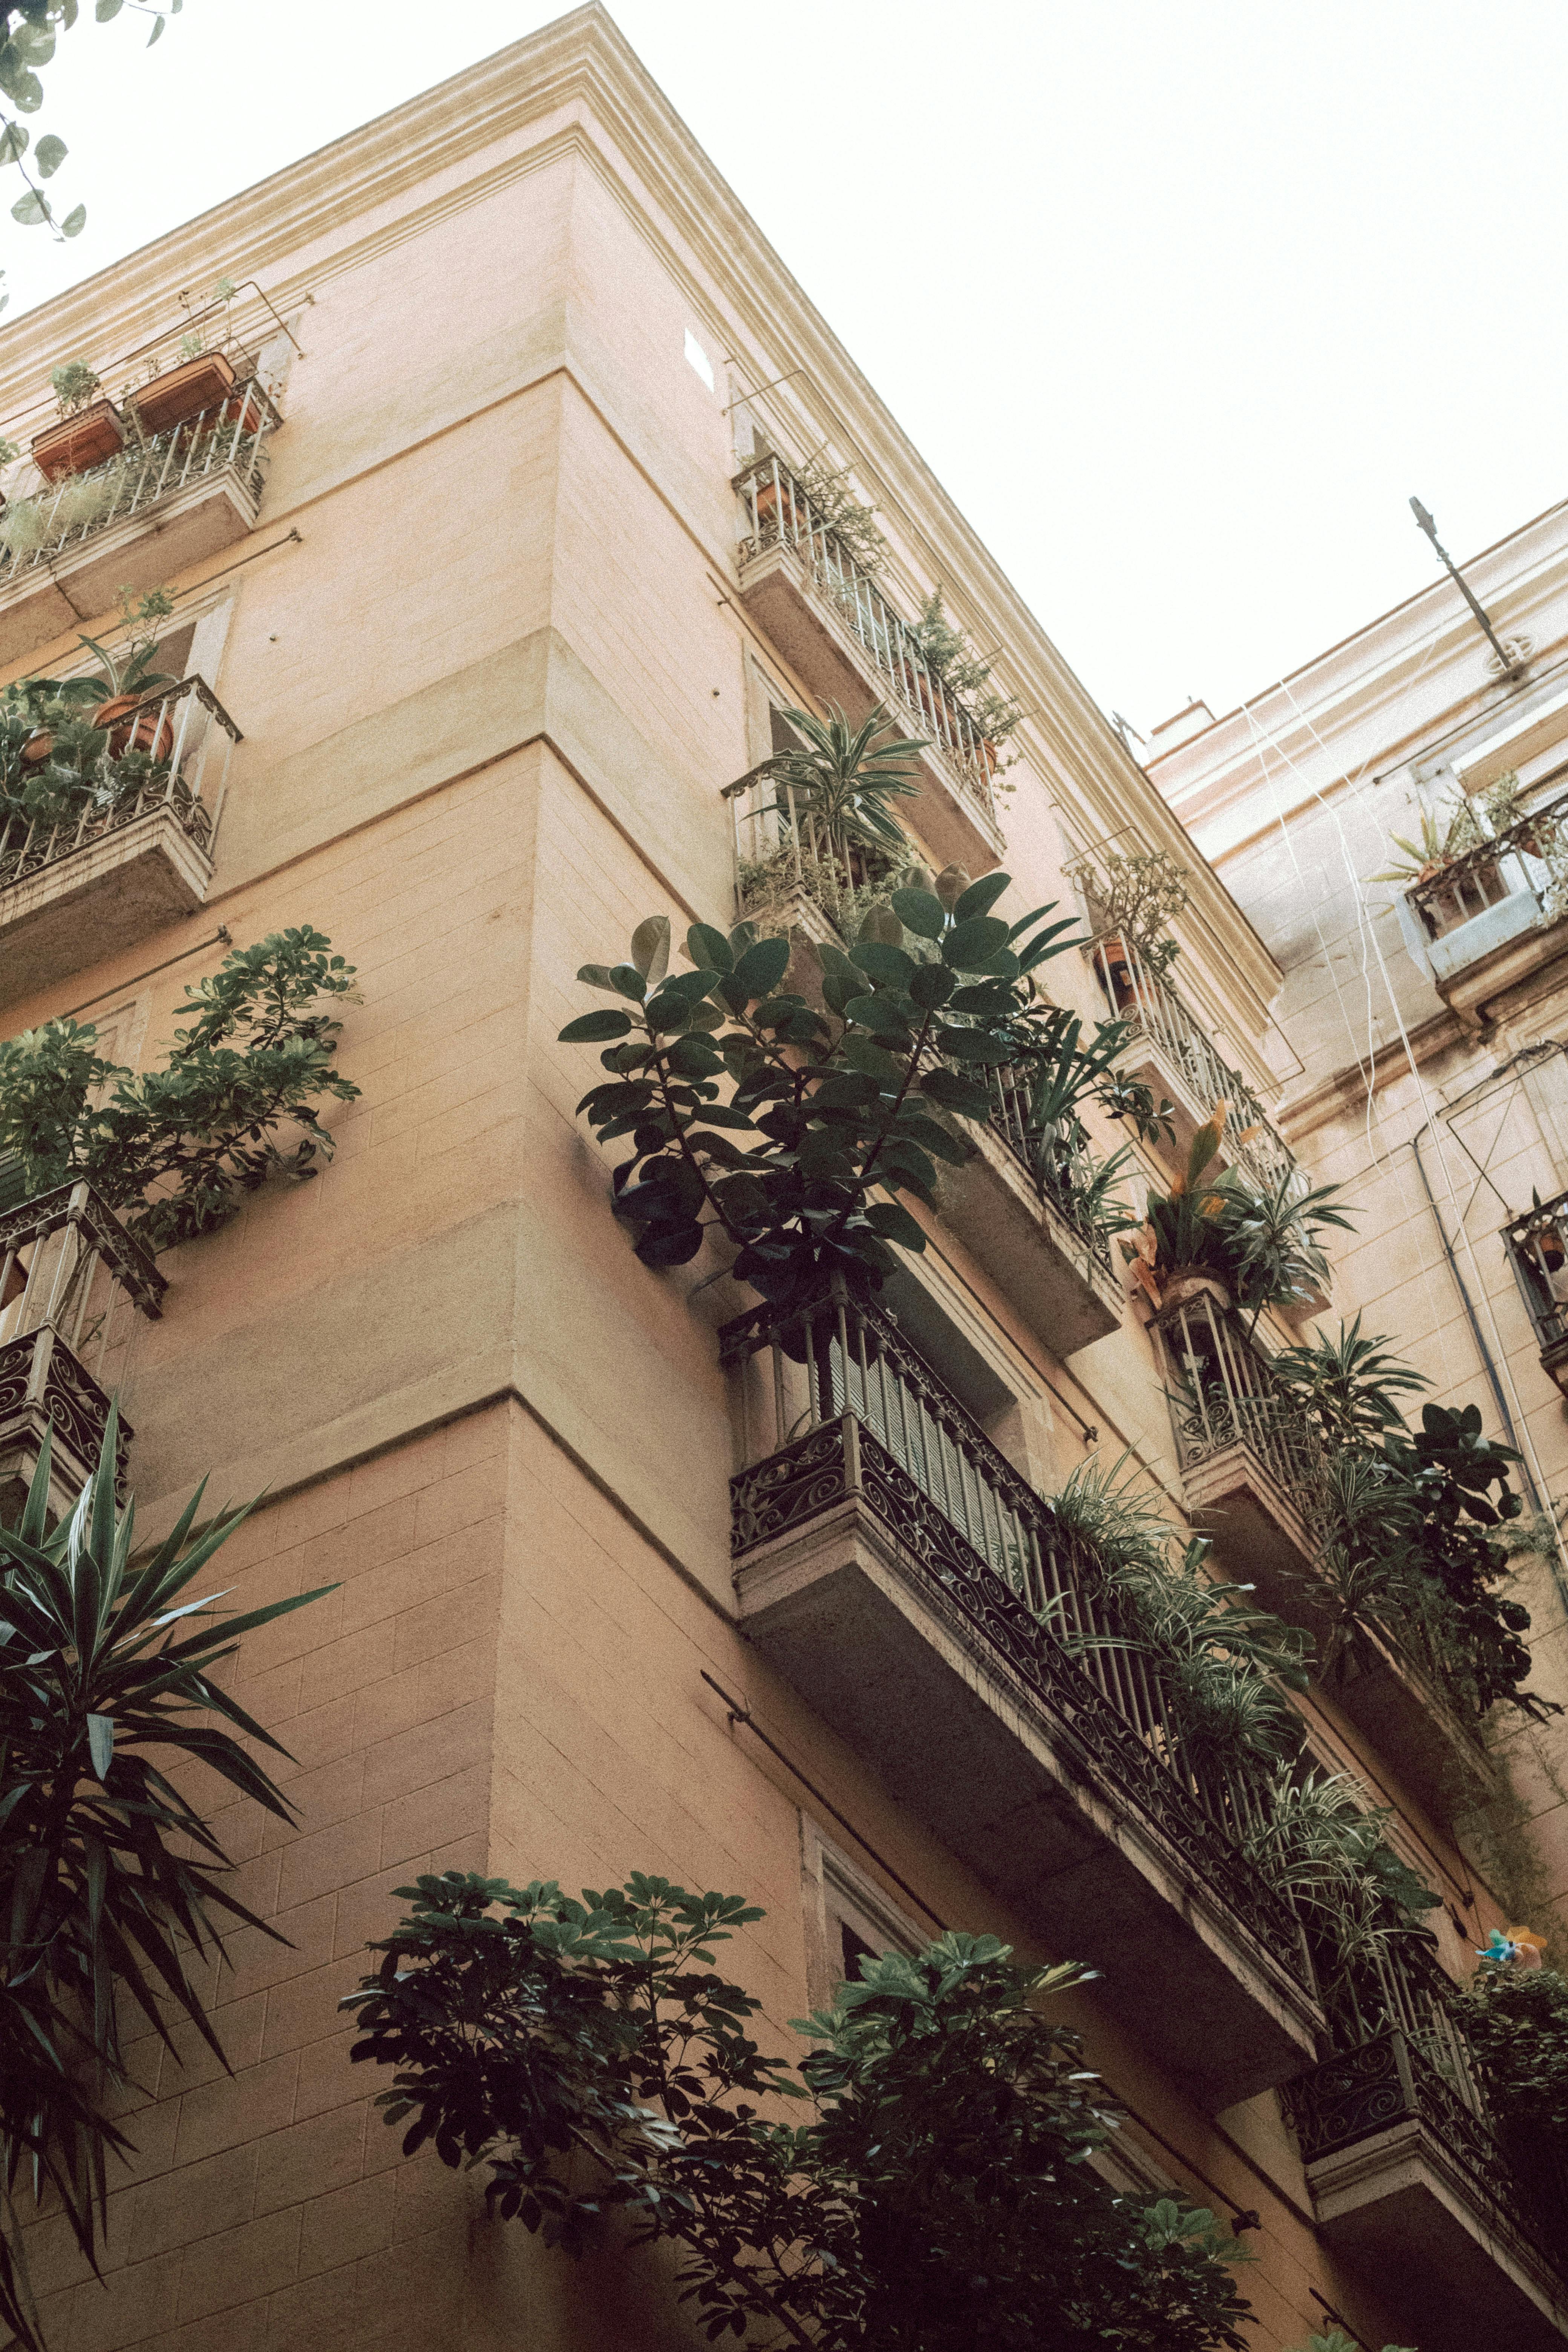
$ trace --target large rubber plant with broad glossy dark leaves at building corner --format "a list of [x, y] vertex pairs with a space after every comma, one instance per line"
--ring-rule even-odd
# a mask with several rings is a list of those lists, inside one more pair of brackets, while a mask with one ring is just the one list
[[[961, 1164], [959, 1122], [985, 1120], [983, 1073], [1018, 1058], [1030, 974], [1074, 917], [1056, 903], [992, 915], [1011, 875], [938, 877], [893, 891], [853, 948], [825, 946], [823, 1011], [785, 990], [788, 938], [691, 924], [691, 971], [670, 971], [670, 924], [637, 924], [630, 962], [578, 978], [621, 997], [559, 1033], [602, 1044], [609, 1077], [578, 1103], [602, 1143], [630, 1136], [616, 1216], [644, 1265], [684, 1265], [710, 1232], [759, 1315], [820, 1298], [839, 1277], [865, 1298], [926, 1237], [898, 1200], [936, 1202], [938, 1162]], [[940, 891], [940, 896], [938, 896]], [[900, 946], [898, 941], [910, 941]]]

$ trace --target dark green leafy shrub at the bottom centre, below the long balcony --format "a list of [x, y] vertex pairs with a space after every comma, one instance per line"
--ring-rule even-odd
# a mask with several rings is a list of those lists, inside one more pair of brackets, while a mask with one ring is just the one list
[[[959, 1933], [863, 1959], [790, 2063], [715, 1969], [764, 1917], [741, 1896], [632, 1877], [574, 1903], [449, 1870], [397, 1898], [411, 1917], [343, 2006], [353, 2056], [397, 2067], [378, 2105], [404, 2150], [484, 2164], [491, 2213], [569, 2253], [607, 2211], [670, 2241], [710, 2340], [1241, 2352], [1234, 2234], [1084, 2161], [1114, 2114], [1039, 2009], [1077, 1966]], [[780, 2098], [804, 2119], [764, 2122]]]

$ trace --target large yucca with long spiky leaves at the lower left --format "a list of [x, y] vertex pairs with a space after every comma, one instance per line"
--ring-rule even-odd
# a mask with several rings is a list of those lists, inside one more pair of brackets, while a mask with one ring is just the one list
[[[127, 2084], [122, 2011], [141, 2011], [174, 2049], [183, 2013], [223, 2051], [193, 1959], [221, 1952], [235, 1924], [266, 1936], [221, 1884], [230, 1860], [169, 1778], [205, 1764], [240, 1797], [294, 1820], [282, 1792], [235, 1731], [287, 1757], [214, 1670], [240, 1635], [320, 1599], [301, 1592], [240, 1616], [190, 1585], [252, 1505], [209, 1519], [202, 1486], [174, 1531], [136, 1564], [136, 1505], [120, 1508], [115, 1414], [75, 1510], [49, 1526], [49, 1439], [16, 1526], [0, 1526], [0, 2317], [40, 2347], [16, 2190], [61, 2199], [96, 2270], [106, 2225], [106, 2157], [132, 2140], [110, 2105]], [[221, 1729], [219, 1717], [233, 1724]], [[153, 1759], [158, 1757], [158, 1762]]]

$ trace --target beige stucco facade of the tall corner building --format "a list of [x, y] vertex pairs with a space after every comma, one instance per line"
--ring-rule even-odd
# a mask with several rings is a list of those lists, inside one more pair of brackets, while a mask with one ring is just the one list
[[[743, 1891], [766, 1919], [736, 1966], [776, 2039], [853, 1938], [945, 1922], [1086, 1959], [1100, 1983], [1077, 2018], [1128, 2107], [1121, 2176], [1239, 2223], [1260, 2352], [1326, 2312], [1373, 2347], [1410, 2340], [1429, 2293], [1410, 2249], [1434, 2232], [1469, 2298], [1453, 2326], [1497, 2312], [1521, 2343], [1561, 2340], [1568, 2284], [1420, 2112], [1302, 2152], [1279, 2093], [1331, 2058], [1309, 1955], [1147, 1724], [1023, 1621], [1013, 1649], [992, 1639], [849, 1484], [837, 1517], [743, 1531], [736, 1555], [750, 1437], [717, 1327], [743, 1296], [710, 1279], [712, 1256], [632, 1258], [574, 1117], [592, 1056], [555, 1042], [588, 1002], [576, 969], [625, 953], [637, 920], [665, 913], [679, 936], [736, 917], [724, 788], [788, 706], [924, 715], [912, 842], [931, 866], [1006, 866], [1004, 913], [1070, 901], [1063, 866], [1107, 842], [1187, 858], [1194, 828], [1215, 873], [1180, 920], [1180, 995], [1143, 1040], [1190, 1124], [1213, 1108], [1204, 1073], [1272, 1103], [1274, 1040], [1300, 1030], [1295, 938], [1251, 868], [1192, 793], [1140, 771], [602, 9], [31, 315], [0, 343], [0, 405], [35, 412], [63, 353], [115, 383], [122, 355], [179, 327], [181, 289], [219, 273], [256, 360], [244, 449], [14, 560], [0, 644], [7, 677], [56, 670], [78, 656], [73, 614], [94, 628], [120, 581], [167, 583], [230, 750], [181, 840], [148, 816], [0, 887], [0, 1021], [75, 1011], [139, 1061], [228, 941], [308, 922], [357, 967], [341, 1068], [360, 1098], [331, 1120], [331, 1164], [169, 1251], [162, 1310], [115, 1362], [146, 1529], [202, 1475], [263, 1491], [226, 1555], [237, 1604], [336, 1590], [237, 1661], [244, 1705], [292, 1750], [299, 1825], [230, 1806], [216, 1828], [289, 1940], [237, 1936], [214, 1980], [233, 2074], [146, 2042], [106, 2288], [56, 2220], [33, 2230], [49, 2340], [693, 2340], [656, 2265], [571, 2265], [487, 2223], [475, 2180], [402, 2161], [369, 2107], [339, 1999], [393, 1889], [449, 1865]], [[776, 461], [773, 517], [804, 515], [795, 468], [823, 445], [879, 508], [875, 604], [842, 593], [809, 527], [769, 532], [745, 482]], [[898, 616], [936, 586], [1004, 649], [997, 677], [1030, 713], [1001, 779], [940, 696], [922, 710]], [[818, 917], [797, 913], [809, 957]], [[1051, 985], [1105, 1011], [1081, 955]], [[1441, 1035], [1443, 1068], [1469, 1075], [1474, 1040]], [[1300, 1051], [1324, 1108], [1291, 1136], [1349, 1171], [1345, 1056]], [[1288, 1145], [1269, 1131], [1267, 1148]], [[1378, 1296], [1359, 1251], [1392, 1249], [1378, 1235], [1396, 1225], [1361, 1228], [1342, 1296]], [[1399, 1232], [1406, 1249], [1415, 1225]], [[1253, 1538], [1300, 1543], [1265, 1472], [1178, 1454], [1119, 1261], [1084, 1247], [1006, 1136], [983, 1141], [893, 1305], [952, 1442], [1025, 1519], [1100, 1449], [1178, 1524], [1199, 1486], [1218, 1498], [1232, 1571]], [[1544, 1444], [1561, 1414], [1523, 1395], [1528, 1357], [1512, 1329], [1500, 1359]], [[978, 1578], [964, 1529], [947, 1534], [959, 1585]], [[813, 1632], [830, 1571], [839, 1616]], [[1486, 1764], [1422, 1729], [1399, 1661], [1389, 1691], [1387, 1715], [1359, 1717], [1314, 1691], [1314, 1755], [1394, 1809], [1458, 1971], [1512, 1903], [1453, 1799], [1469, 1790], [1474, 1813]], [[1547, 1799], [1526, 1802], [1544, 1820]]]

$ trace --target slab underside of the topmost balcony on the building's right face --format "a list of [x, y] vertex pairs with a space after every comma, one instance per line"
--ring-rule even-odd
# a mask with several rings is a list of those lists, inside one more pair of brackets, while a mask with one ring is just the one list
[[[795, 548], [771, 546], [752, 555], [741, 572], [741, 602], [818, 701], [837, 703], [856, 724], [886, 701], [900, 734], [926, 734], [905, 722], [891, 682], [818, 593]], [[964, 790], [938, 750], [924, 753], [917, 771], [919, 800], [907, 807], [926, 849], [943, 866], [964, 866], [976, 877], [990, 873], [1001, 861], [1001, 833], [990, 811]]]

